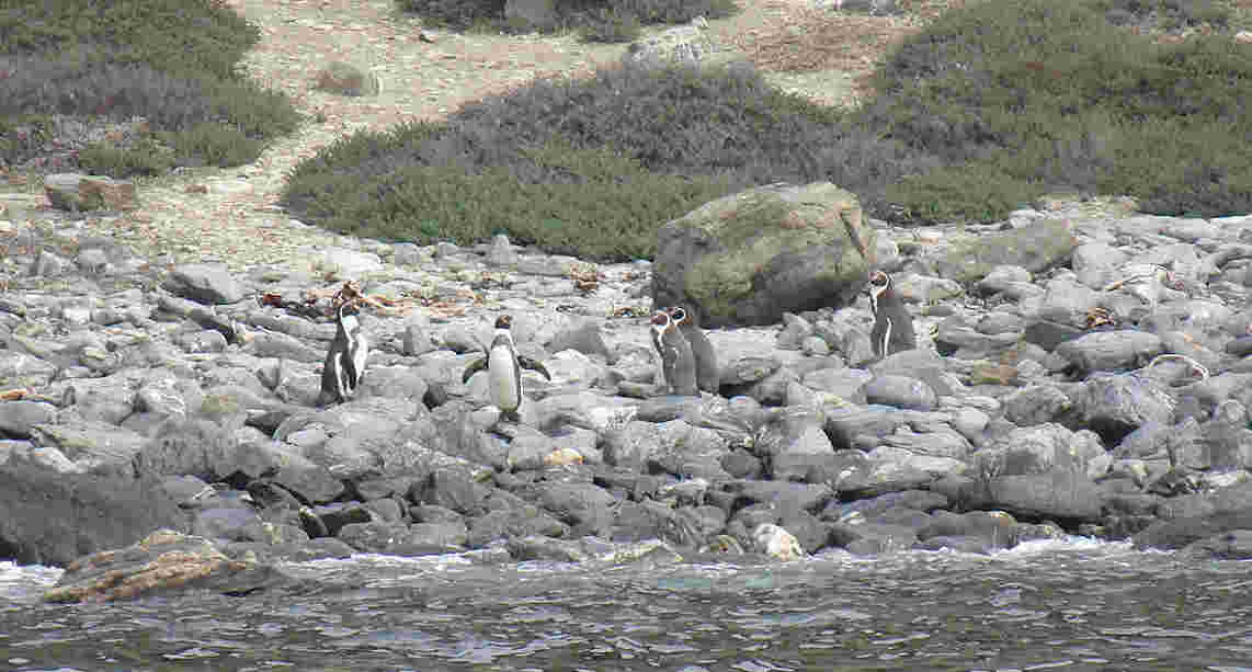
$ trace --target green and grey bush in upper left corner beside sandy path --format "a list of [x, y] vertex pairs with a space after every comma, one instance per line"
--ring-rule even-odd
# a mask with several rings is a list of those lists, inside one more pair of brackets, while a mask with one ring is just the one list
[[[141, 116], [153, 133], [173, 134], [173, 158], [148, 155], [155, 139], [88, 146], [84, 169], [130, 176], [175, 164], [238, 165], [299, 123], [285, 95], [235, 73], [259, 33], [213, 0], [0, 0], [0, 119], [9, 125], [40, 115]], [[0, 143], [0, 161], [29, 154]]]

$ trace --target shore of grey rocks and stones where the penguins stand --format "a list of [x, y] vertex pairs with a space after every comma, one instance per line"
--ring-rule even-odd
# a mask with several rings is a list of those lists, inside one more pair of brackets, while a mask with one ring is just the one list
[[[869, 225], [919, 348], [875, 360], [864, 297], [711, 329], [720, 394], [696, 398], [655, 395], [646, 262], [344, 238], [230, 273], [29, 210], [0, 221], [0, 558], [148, 538], [50, 596], [84, 599], [247, 592], [356, 552], [790, 559], [1077, 533], [1252, 557], [1252, 216], [1062, 199]], [[317, 408], [344, 280], [384, 308], [356, 398]], [[461, 382], [501, 313], [551, 372], [527, 373], [520, 424]]]

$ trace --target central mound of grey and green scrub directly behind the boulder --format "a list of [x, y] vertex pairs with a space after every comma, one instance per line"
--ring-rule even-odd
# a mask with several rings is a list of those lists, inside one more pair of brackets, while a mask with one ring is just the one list
[[746, 66], [618, 68], [536, 83], [447, 124], [358, 134], [293, 171], [283, 204], [359, 235], [468, 243], [503, 232], [601, 259], [650, 257], [656, 228], [725, 194], [920, 170], [903, 145]]

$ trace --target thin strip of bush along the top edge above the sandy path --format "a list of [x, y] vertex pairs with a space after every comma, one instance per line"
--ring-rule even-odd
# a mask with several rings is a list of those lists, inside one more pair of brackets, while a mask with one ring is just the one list
[[551, 25], [531, 26], [507, 21], [505, 0], [396, 0], [396, 5], [456, 30], [577, 30], [585, 40], [601, 43], [635, 40], [644, 25], [721, 19], [737, 11], [734, 0], [556, 0]]

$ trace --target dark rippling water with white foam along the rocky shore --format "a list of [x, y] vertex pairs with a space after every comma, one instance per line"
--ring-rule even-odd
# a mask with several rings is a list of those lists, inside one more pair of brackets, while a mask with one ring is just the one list
[[1252, 672], [1252, 563], [1085, 541], [785, 564], [287, 566], [295, 593], [38, 601], [0, 563], [0, 668]]

